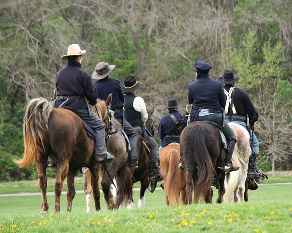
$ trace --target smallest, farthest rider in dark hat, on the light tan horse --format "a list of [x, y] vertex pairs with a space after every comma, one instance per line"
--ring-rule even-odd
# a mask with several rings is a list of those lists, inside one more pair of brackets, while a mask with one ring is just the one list
[[161, 118], [158, 126], [161, 139], [159, 151], [169, 143], [180, 143], [180, 135], [187, 124], [187, 119], [183, 113], [178, 112], [178, 107], [177, 100], [169, 100], [167, 106], [164, 107], [168, 113]]

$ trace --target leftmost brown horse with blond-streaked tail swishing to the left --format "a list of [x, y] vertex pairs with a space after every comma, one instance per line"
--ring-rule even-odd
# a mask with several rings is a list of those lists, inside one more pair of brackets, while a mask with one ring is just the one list
[[[111, 95], [107, 101], [98, 101], [103, 120], [109, 121], [108, 108]], [[108, 122], [106, 127], [108, 127]], [[74, 175], [82, 167], [91, 171], [91, 183], [96, 210], [100, 210], [100, 193], [98, 188], [98, 171], [100, 164], [91, 157], [94, 141], [88, 137], [80, 117], [68, 109], [53, 108], [44, 98], [36, 98], [28, 103], [23, 120], [24, 157], [15, 160], [19, 167], [30, 167], [37, 162], [38, 182], [42, 192], [40, 214], [48, 213], [47, 202], [47, 159], [58, 163], [58, 175], [55, 181], [55, 212], [60, 211], [60, 196], [63, 182], [67, 176], [67, 212], [72, 210], [75, 196]]]

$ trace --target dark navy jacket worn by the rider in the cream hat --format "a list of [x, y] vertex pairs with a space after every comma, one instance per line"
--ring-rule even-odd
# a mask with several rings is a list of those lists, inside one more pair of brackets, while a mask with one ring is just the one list
[[[96, 89], [91, 82], [91, 76], [81, 69], [78, 61], [68, 61], [67, 67], [56, 73], [57, 95], [74, 96], [64, 107], [87, 108], [87, 100], [91, 105], [97, 103]], [[66, 99], [57, 99], [55, 108], [58, 108]]]

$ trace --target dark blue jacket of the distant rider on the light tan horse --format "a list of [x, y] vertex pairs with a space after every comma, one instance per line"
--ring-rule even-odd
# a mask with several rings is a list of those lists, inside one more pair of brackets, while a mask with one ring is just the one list
[[[183, 126], [183, 128], [186, 126], [187, 119], [186, 119], [186, 117], [184, 115], [182, 117], [182, 114], [179, 113], [177, 110], [169, 111], [169, 113], [172, 113], [178, 121], [181, 121], [182, 118], [183, 118], [183, 123], [181, 124], [181, 126]], [[169, 113], [166, 114], [166, 115], [164, 115], [161, 118], [160, 123], [159, 123], [159, 126], [158, 126], [158, 134], [159, 134], [159, 137], [161, 139], [161, 146], [162, 147], [168, 145], [169, 143], [174, 143], [174, 141], [170, 137], [166, 137], [166, 135], [172, 134], [172, 132], [176, 128], [178, 128], [178, 125], [176, 125], [174, 123], [174, 121], [169, 116]], [[183, 129], [176, 130], [172, 135], [179, 136], [179, 135], [181, 135], [182, 130]]]

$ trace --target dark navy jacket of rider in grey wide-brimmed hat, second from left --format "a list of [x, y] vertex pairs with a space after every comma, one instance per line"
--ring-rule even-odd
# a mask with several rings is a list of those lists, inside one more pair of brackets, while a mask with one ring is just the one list
[[[111, 109], [124, 107], [124, 95], [120, 87], [120, 81], [109, 78], [109, 76], [97, 80], [93, 86], [96, 88], [97, 98], [107, 100], [108, 96], [112, 94]], [[122, 117], [121, 112], [115, 112], [115, 117]]]

